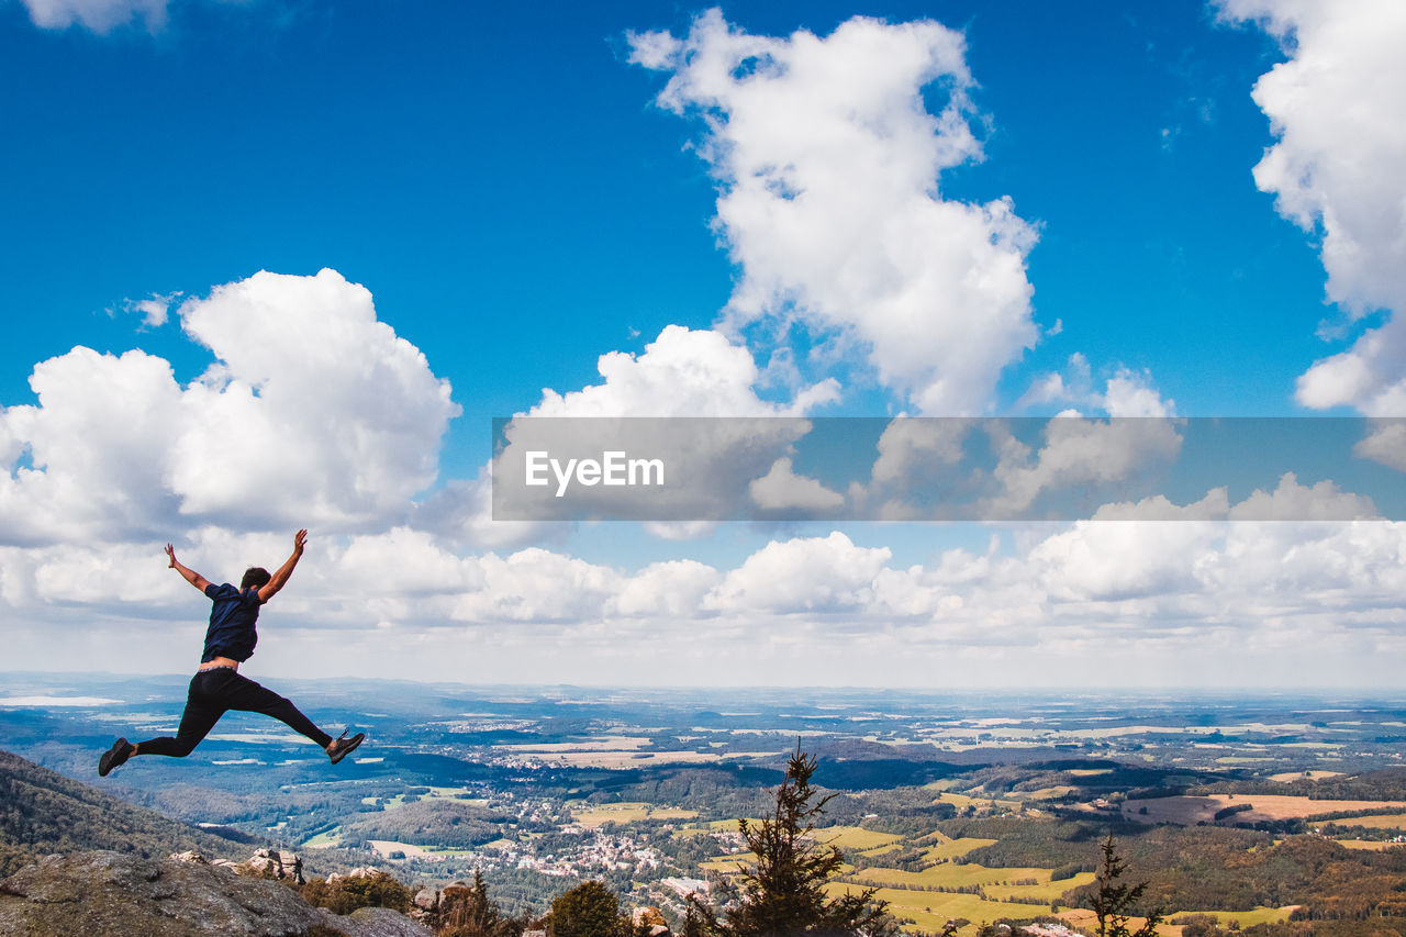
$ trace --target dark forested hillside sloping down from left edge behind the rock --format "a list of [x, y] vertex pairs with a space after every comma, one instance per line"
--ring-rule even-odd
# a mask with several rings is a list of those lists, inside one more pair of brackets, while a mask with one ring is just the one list
[[249, 847], [0, 751], [0, 878], [49, 853], [112, 850], [145, 858], [198, 850], [242, 858]]

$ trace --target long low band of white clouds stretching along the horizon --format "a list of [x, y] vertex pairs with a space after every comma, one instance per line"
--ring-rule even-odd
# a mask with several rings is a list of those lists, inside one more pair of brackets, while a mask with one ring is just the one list
[[[1391, 678], [1364, 661], [1406, 651], [1406, 523], [1194, 519], [1240, 506], [1218, 490], [1181, 522], [1014, 528], [984, 552], [907, 567], [841, 532], [773, 540], [725, 568], [673, 560], [633, 573], [541, 549], [460, 557], [408, 529], [318, 539], [267, 613], [277, 640], [270, 632], [256, 663], [262, 674], [307, 673], [316, 657], [363, 675], [713, 685], [980, 685], [1057, 667], [1125, 685], [1146, 684], [1137, 661], [1154, 656], [1168, 681], [1218, 685], [1230, 674], [1205, 671], [1208, 660], [1253, 651], [1263, 667], [1250, 680], [1265, 685], [1286, 673], [1327, 685], [1348, 664], [1360, 680]], [[1157, 516], [1171, 515], [1160, 505]], [[288, 546], [287, 535], [208, 528], [177, 550], [226, 578]], [[13, 665], [42, 664], [27, 649], [82, 629], [75, 665], [187, 667], [207, 604], [163, 560], [156, 546], [0, 547], [0, 609], [24, 623], [11, 629]], [[188, 635], [179, 647], [157, 640], [173, 622]], [[27, 642], [35, 627], [48, 637]]]

